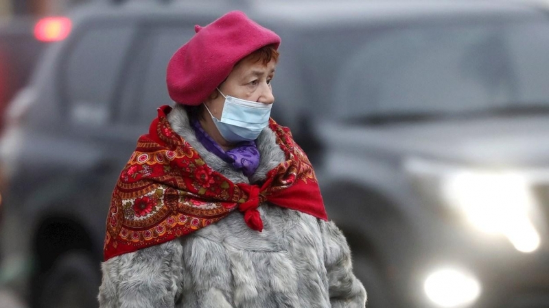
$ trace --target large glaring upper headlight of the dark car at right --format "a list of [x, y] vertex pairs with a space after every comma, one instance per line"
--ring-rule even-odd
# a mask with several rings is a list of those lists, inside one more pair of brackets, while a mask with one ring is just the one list
[[478, 229], [504, 235], [523, 253], [539, 248], [539, 233], [530, 220], [535, 203], [523, 175], [441, 166], [419, 159], [407, 161], [406, 168], [414, 174], [436, 175], [443, 201]]

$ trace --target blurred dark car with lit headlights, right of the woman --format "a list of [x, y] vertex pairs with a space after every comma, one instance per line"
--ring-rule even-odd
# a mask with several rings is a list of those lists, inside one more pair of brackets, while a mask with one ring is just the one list
[[276, 108], [298, 115], [369, 305], [549, 307], [547, 12], [369, 1], [296, 15]]

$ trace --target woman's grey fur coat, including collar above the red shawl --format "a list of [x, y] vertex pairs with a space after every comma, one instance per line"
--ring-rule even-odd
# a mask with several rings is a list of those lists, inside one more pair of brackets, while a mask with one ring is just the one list
[[[285, 158], [267, 127], [257, 140], [259, 168], [248, 179], [198, 142], [183, 107], [174, 107], [168, 120], [211, 168], [234, 183], [261, 181]], [[183, 238], [108, 259], [102, 264], [100, 307], [365, 306], [349, 246], [333, 222], [268, 203], [258, 209], [261, 233], [234, 211]]]

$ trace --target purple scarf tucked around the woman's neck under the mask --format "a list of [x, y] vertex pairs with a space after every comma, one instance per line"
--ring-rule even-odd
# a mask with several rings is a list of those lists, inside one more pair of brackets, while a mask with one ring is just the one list
[[213, 140], [200, 125], [199, 120], [193, 120], [194, 132], [200, 143], [211, 153], [217, 155], [225, 162], [233, 164], [236, 170], [249, 177], [259, 166], [259, 151], [254, 141], [239, 142], [234, 149], [224, 151], [221, 146]]

